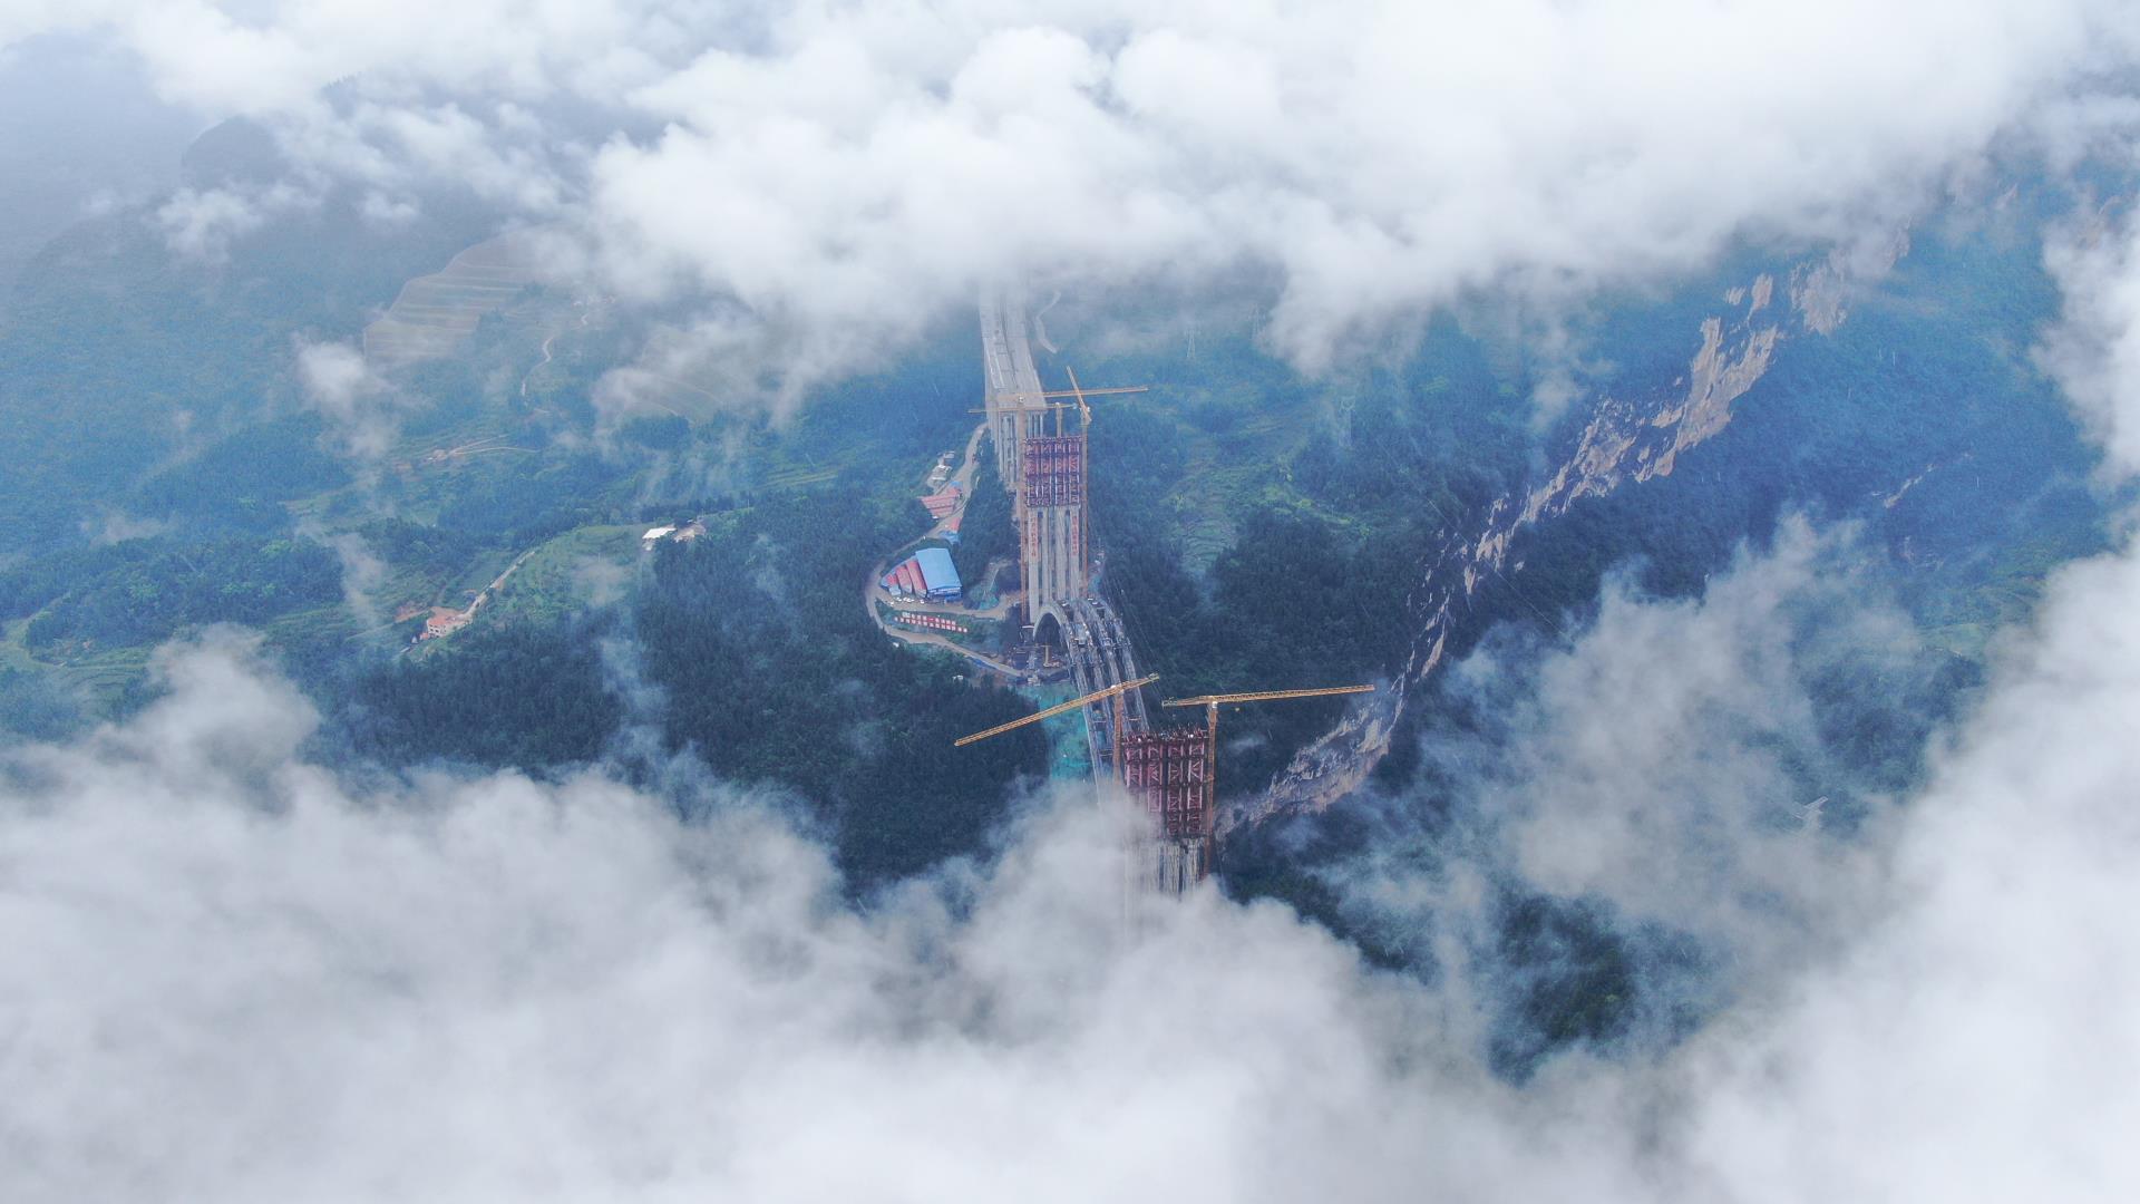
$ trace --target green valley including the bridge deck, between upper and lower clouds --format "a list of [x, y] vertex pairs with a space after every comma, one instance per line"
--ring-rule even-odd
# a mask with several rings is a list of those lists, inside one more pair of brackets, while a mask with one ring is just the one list
[[[2007, 465], [1988, 443], [1992, 407], [1958, 418], [1909, 392], [1943, 323], [2033, 287], [2018, 259], [1956, 257], [1930, 234], [1885, 279], [1748, 257], [1699, 289], [1607, 306], [1594, 338], [1620, 366], [1543, 431], [1537, 368], [1457, 321], [1430, 326], [1404, 360], [1318, 379], [1256, 345], [1250, 308], [1119, 306], [1070, 289], [1042, 298], [1046, 343], [1025, 345], [1031, 319], [997, 308], [976, 364], [972, 317], [946, 319], [905, 362], [773, 418], [717, 405], [713, 379], [631, 375], [623, 308], [529, 283], [501, 255], [494, 242], [441, 255], [454, 264], [443, 276], [372, 294], [385, 308], [366, 321], [351, 311], [353, 336], [389, 323], [374, 326], [385, 392], [366, 416], [387, 435], [381, 452], [351, 456], [342, 418], [304, 407], [240, 420], [137, 493], [98, 501], [146, 536], [19, 553], [0, 598], [24, 724], [124, 711], [146, 696], [156, 638], [257, 615], [353, 754], [419, 731], [396, 758], [561, 765], [638, 724], [659, 748], [824, 791], [824, 810], [845, 814], [860, 803], [841, 795], [858, 799], [910, 752], [937, 756], [1042, 698], [1147, 673], [1168, 696], [1380, 683], [1352, 705], [1228, 716], [1226, 780], [1205, 808], [1233, 853], [1205, 861], [1237, 861], [1243, 889], [1258, 889], [1258, 829], [1404, 782], [1408, 746], [1442, 722], [1438, 675], [1496, 626], [1566, 638], [1626, 557], [1652, 566], [1656, 589], [1686, 591], [1791, 508], [1870, 523], [1939, 647], [1969, 664], [1990, 630], [1984, 606], [2027, 606], [2048, 563], [2099, 540], [2086, 465], [2059, 450], [2074, 448], [2069, 431], [2037, 439], [2067, 458]], [[456, 272], [473, 291], [437, 294]], [[454, 313], [396, 315], [400, 302]], [[392, 338], [413, 317], [437, 319], [422, 356]], [[1937, 351], [1960, 364], [1950, 375], [1984, 379], [1986, 396], [2027, 371], [1994, 343], [1952, 347]], [[1072, 360], [1096, 388], [1068, 388]], [[1823, 375], [1840, 360], [1894, 375], [1907, 405], [1834, 405]], [[621, 368], [636, 383], [606, 394]], [[1044, 390], [1042, 373], [1064, 388]], [[980, 422], [967, 413], [976, 381], [991, 411]], [[1922, 433], [1941, 424], [1930, 458], [1969, 473], [1926, 473]], [[1004, 446], [1029, 437], [1070, 439], [1044, 443], [1034, 463], [1053, 476], [1031, 497], [1025, 454]], [[946, 450], [944, 480], [927, 480]], [[1838, 463], [1862, 473], [1823, 467]], [[950, 510], [916, 501], [950, 488]], [[1956, 491], [1977, 491], [1969, 506], [1986, 521], [1999, 510], [1984, 497], [2005, 497], [2014, 525], [1958, 555], [1943, 531]], [[1042, 510], [1044, 523], [1027, 521]], [[644, 531], [687, 521], [706, 536], [642, 546]], [[259, 574], [278, 538], [295, 559], [276, 563], [317, 576], [263, 576], [250, 611], [225, 602], [231, 570], [203, 557], [257, 561], [244, 572]], [[931, 546], [950, 555], [959, 602], [880, 585]], [[1986, 574], [2001, 587], [1973, 585]], [[216, 600], [154, 626], [118, 621], [120, 598], [190, 598], [186, 581]], [[676, 593], [687, 581], [696, 593]], [[362, 621], [362, 606], [379, 619]], [[56, 638], [62, 621], [79, 636]], [[511, 720], [511, 739], [479, 731], [501, 711], [462, 696], [501, 692], [548, 713]], [[758, 722], [719, 713], [740, 698]], [[890, 853], [907, 838], [880, 833], [882, 863], [987, 840], [997, 806], [984, 799], [1017, 773], [1119, 773], [1111, 707], [1070, 739], [1061, 722], [1049, 739], [1004, 737], [969, 782], [959, 771], [929, 838]], [[1126, 733], [1166, 726], [1145, 692], [1121, 709]], [[989, 722], [957, 724], [957, 711]], [[856, 737], [790, 748], [790, 720]], [[890, 733], [918, 722], [942, 735], [895, 748]]]

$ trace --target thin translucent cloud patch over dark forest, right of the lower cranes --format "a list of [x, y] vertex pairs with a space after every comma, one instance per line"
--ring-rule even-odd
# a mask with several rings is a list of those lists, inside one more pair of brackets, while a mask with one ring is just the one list
[[[1502, 720], [1509, 746], [1470, 767], [1477, 823], [1517, 878], [1697, 934], [1748, 968], [1783, 966], [1860, 915], [1892, 799], [1830, 748], [1817, 707], [1849, 701], [1834, 681], [1821, 698], [1821, 677], [1847, 666], [1890, 692], [1862, 701], [1868, 711], [1907, 707], [1917, 651], [1909, 617], [1858, 572], [1862, 555], [1849, 533], [1787, 521], [1768, 555], [1742, 553], [1699, 600], [1609, 583], [1596, 623], [1545, 658]], [[1472, 658], [1453, 681], [1504, 673]], [[1870, 803], [1870, 818], [1838, 840], [1817, 799]]]

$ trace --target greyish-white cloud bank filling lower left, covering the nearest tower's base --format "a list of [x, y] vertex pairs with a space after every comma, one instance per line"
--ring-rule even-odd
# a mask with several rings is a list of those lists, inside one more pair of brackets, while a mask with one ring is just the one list
[[969, 917], [862, 919], [747, 799], [351, 795], [242, 645], [165, 668], [0, 803], [11, 1200], [1299, 1198], [1459, 1123], [1402, 1090], [1406, 1000], [1280, 908], [1130, 938], [1089, 810]]

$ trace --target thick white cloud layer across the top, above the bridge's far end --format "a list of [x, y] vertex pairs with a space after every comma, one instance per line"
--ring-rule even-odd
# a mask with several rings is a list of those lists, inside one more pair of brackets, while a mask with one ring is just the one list
[[2091, 88], [2140, 51], [2095, 0], [101, 0], [0, 43], [54, 24], [381, 210], [447, 178], [556, 223], [588, 257], [561, 270], [730, 298], [704, 356], [740, 328], [798, 377], [1017, 274], [1273, 272], [1269, 336], [1314, 368], [1466, 291], [1552, 308], [1736, 238], [1851, 242], [1999, 139], [2129, 124]]

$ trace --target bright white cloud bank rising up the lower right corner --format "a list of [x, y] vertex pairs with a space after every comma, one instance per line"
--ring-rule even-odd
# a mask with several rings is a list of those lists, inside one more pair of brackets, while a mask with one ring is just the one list
[[[1746, 1200], [2116, 1200], [2140, 1155], [2125, 866], [2140, 557], [2061, 574], [2035, 643], [1911, 803], [1896, 904], [1723, 1065], [1695, 1148]], [[2057, 1150], [2057, 1155], [2048, 1155]], [[2048, 1155], [2048, 1157], [2046, 1157]]]

